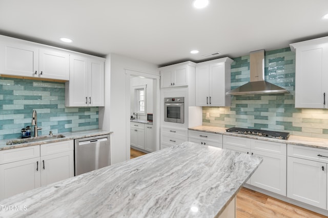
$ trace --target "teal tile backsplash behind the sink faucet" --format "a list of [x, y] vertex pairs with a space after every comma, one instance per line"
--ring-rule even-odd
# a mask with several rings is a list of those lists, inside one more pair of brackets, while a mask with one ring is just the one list
[[98, 129], [98, 107], [65, 107], [65, 83], [0, 77], [0, 139], [19, 138], [34, 109], [39, 135]]

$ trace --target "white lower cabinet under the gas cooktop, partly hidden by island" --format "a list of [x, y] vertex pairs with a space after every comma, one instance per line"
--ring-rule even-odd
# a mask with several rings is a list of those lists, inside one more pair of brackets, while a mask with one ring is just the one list
[[224, 135], [223, 149], [262, 157], [262, 163], [247, 183], [286, 196], [285, 143]]

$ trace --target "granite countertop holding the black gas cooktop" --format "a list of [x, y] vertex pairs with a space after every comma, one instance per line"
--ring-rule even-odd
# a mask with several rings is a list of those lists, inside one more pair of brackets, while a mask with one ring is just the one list
[[188, 128], [188, 129], [195, 130], [195, 131], [201, 131], [201, 132], [222, 134], [222, 135], [232, 135], [232, 136], [239, 136], [239, 137], [244, 137], [244, 138], [260, 139], [260, 140], [265, 140], [265, 141], [296, 144], [298, 146], [306, 146], [306, 147], [319, 148], [319, 149], [328, 149], [328, 139], [324, 139], [324, 138], [312, 138], [312, 137], [290, 135], [287, 140], [284, 140], [284, 139], [268, 138], [268, 137], [254, 136], [254, 135], [243, 135], [243, 134], [238, 134], [238, 133], [230, 133], [230, 132], [226, 132], [227, 128], [222, 128], [222, 127], [198, 126], [198, 127]]

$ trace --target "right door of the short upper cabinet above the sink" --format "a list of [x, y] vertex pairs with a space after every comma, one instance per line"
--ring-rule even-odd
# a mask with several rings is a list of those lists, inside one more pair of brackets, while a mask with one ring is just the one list
[[69, 55], [55, 50], [39, 50], [40, 78], [69, 80]]

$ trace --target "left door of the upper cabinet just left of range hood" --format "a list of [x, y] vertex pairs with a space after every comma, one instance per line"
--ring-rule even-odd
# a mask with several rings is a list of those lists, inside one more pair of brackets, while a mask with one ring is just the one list
[[210, 106], [209, 105], [209, 81], [210, 72], [209, 65], [202, 65], [196, 67], [196, 106]]

